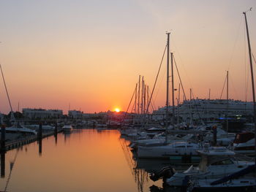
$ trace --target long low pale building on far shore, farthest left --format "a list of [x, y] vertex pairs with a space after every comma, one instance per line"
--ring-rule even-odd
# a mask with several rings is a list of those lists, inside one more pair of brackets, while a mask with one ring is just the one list
[[62, 110], [44, 110], [44, 109], [29, 109], [22, 110], [24, 118], [30, 119], [48, 119], [48, 118], [61, 118], [63, 115]]

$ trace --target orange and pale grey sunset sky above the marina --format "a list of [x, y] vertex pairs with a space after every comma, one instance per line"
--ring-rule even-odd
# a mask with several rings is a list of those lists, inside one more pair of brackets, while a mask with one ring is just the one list
[[[12, 107], [125, 111], [139, 75], [153, 88], [165, 31], [187, 97], [192, 88], [206, 99], [211, 88], [211, 99], [219, 99], [228, 70], [230, 98], [252, 101], [242, 14], [250, 7], [256, 57], [255, 0], [2, 0], [0, 63]], [[165, 105], [165, 73], [166, 59], [157, 107]], [[0, 112], [9, 111], [1, 80]]]

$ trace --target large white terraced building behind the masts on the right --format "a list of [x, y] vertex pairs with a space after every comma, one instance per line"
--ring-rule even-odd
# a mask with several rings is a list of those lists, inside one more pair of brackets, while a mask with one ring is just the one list
[[[153, 120], [164, 120], [166, 108], [162, 107], [152, 113]], [[171, 106], [169, 108], [170, 117], [172, 116]], [[183, 121], [191, 120], [219, 120], [228, 117], [241, 117], [253, 115], [253, 103], [229, 99], [192, 99], [184, 101], [175, 107], [176, 118], [180, 117]]]

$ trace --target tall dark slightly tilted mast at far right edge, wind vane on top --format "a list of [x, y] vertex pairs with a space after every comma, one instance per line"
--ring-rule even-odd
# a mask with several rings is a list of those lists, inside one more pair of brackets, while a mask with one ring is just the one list
[[[252, 7], [249, 9], [249, 11], [252, 10]], [[247, 11], [246, 11], [247, 12]], [[253, 99], [253, 111], [254, 111], [254, 122], [255, 122], [255, 164], [256, 164], [256, 106], [255, 106], [255, 80], [253, 77], [253, 68], [252, 68], [252, 51], [251, 51], [251, 44], [249, 41], [249, 30], [248, 30], [248, 24], [247, 24], [247, 18], [246, 18], [246, 12], [243, 12], [245, 24], [246, 24], [246, 34], [247, 34], [247, 42], [248, 42], [248, 52], [249, 52], [249, 64], [251, 68], [251, 77], [252, 77], [252, 99]]]

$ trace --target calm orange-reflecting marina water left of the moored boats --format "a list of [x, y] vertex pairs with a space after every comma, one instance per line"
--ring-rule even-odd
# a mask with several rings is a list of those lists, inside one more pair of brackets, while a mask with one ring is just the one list
[[162, 181], [151, 181], [145, 171], [159, 164], [134, 161], [128, 144], [118, 131], [85, 129], [42, 139], [41, 147], [34, 142], [10, 150], [5, 166], [1, 159], [0, 191], [124, 192], [161, 187]]

